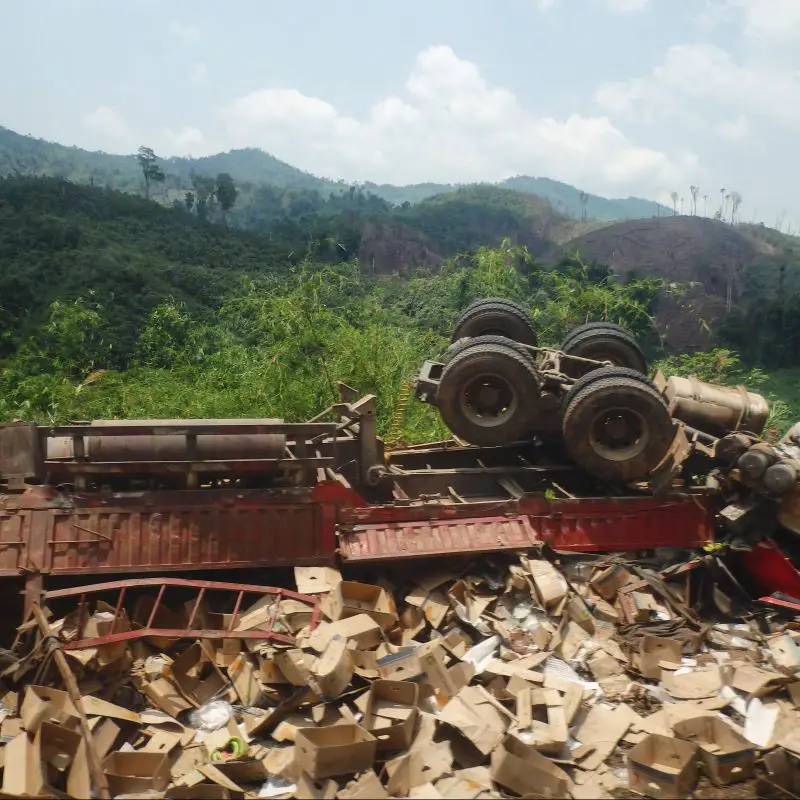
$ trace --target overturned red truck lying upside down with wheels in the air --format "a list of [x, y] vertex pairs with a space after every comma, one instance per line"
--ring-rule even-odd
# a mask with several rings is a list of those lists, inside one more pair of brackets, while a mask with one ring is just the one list
[[[23, 577], [30, 602], [51, 575], [700, 547], [738, 491], [730, 459], [763, 444], [767, 406], [646, 371], [618, 326], [540, 348], [523, 309], [489, 299], [417, 382], [453, 440], [384, 452], [374, 398], [344, 385], [305, 423], [5, 425], [0, 576]], [[770, 453], [763, 473], [791, 460]]]

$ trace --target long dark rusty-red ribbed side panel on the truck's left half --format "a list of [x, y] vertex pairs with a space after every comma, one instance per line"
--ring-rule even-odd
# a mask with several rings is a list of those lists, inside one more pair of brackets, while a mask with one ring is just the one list
[[315, 504], [76, 508], [53, 515], [48, 572], [147, 572], [313, 564], [323, 549]]

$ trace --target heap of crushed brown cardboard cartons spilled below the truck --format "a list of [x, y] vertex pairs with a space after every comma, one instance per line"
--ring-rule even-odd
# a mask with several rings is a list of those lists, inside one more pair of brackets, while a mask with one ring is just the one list
[[48, 600], [3, 673], [3, 795], [800, 795], [800, 624], [661, 556]]

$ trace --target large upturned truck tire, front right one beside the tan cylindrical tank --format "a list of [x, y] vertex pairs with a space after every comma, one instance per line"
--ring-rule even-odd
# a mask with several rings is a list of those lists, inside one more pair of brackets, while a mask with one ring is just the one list
[[672, 418], [648, 383], [603, 373], [573, 395], [562, 420], [564, 444], [590, 475], [616, 483], [642, 480], [669, 451]]

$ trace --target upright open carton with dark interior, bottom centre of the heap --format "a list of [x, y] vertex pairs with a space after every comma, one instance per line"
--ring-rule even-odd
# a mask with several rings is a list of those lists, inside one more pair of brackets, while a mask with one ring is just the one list
[[405, 750], [414, 738], [419, 686], [408, 681], [377, 680], [370, 686], [364, 728], [378, 740], [378, 751]]

